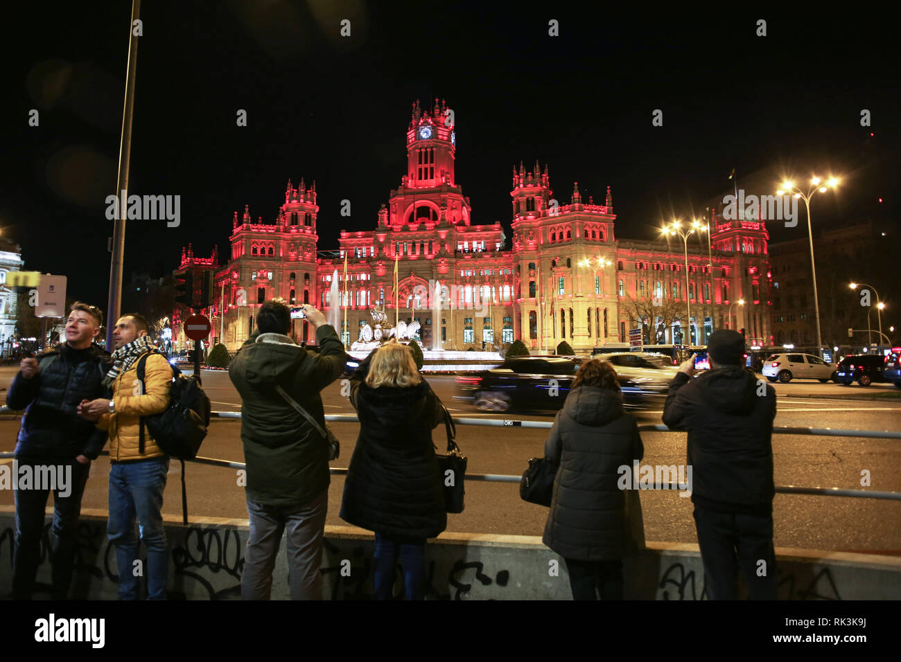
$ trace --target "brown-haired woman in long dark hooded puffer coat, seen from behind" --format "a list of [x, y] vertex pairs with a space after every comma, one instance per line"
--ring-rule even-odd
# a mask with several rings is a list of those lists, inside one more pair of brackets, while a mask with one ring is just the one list
[[[623, 599], [623, 556], [642, 547], [638, 492], [617, 485], [620, 467], [644, 457], [635, 420], [623, 411], [616, 371], [580, 367], [544, 444], [558, 464], [544, 544], [566, 560], [574, 600]], [[637, 477], [636, 477], [637, 480]]]

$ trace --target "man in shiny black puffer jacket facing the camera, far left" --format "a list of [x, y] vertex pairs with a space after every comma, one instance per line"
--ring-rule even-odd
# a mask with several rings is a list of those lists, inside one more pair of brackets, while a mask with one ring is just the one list
[[105, 390], [103, 378], [109, 354], [94, 344], [102, 323], [103, 314], [95, 306], [73, 304], [66, 322], [66, 341], [38, 358], [23, 358], [6, 394], [7, 406], [25, 410], [15, 445], [16, 600], [32, 597], [41, 560], [44, 509], [51, 489], [53, 594], [65, 599], [68, 593], [81, 495], [91, 460], [106, 443], [106, 432], [76, 413], [78, 404], [99, 397]]

